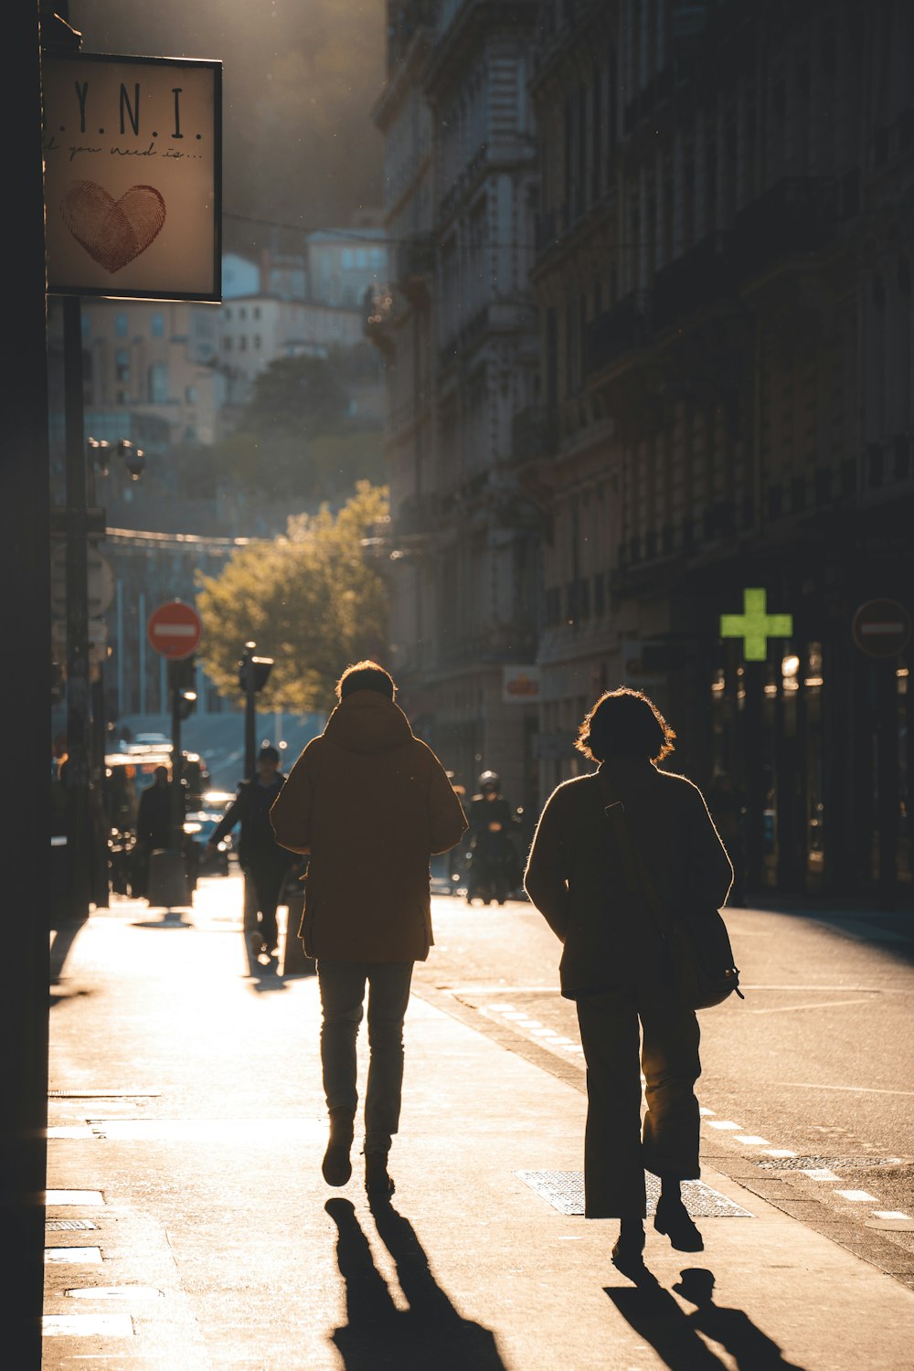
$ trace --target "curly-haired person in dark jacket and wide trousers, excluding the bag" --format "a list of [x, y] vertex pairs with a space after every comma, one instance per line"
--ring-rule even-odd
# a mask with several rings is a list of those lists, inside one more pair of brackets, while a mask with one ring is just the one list
[[[655, 1228], [681, 1252], [702, 1250], [680, 1182], [699, 1171], [700, 1073], [695, 1012], [676, 998], [648, 898], [632, 888], [606, 816], [623, 805], [632, 847], [669, 909], [719, 909], [733, 879], [699, 788], [660, 771], [676, 733], [625, 687], [600, 696], [577, 749], [596, 775], [559, 786], [540, 817], [525, 888], [565, 945], [562, 994], [576, 1001], [586, 1061], [585, 1216], [619, 1219], [613, 1260], [640, 1267], [644, 1171], [660, 1178]], [[647, 1112], [641, 1128], [644, 1069]]]

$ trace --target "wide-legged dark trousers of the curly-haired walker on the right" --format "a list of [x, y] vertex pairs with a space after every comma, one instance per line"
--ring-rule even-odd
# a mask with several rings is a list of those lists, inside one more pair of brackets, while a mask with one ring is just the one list
[[581, 995], [577, 1012], [586, 1061], [584, 1212], [643, 1217], [645, 1169], [671, 1180], [700, 1175], [697, 1019], [669, 995], [636, 987]]

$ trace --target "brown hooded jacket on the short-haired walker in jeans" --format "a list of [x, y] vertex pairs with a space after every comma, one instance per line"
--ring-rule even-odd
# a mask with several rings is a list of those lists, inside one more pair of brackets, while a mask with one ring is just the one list
[[466, 831], [441, 762], [377, 691], [347, 695], [289, 772], [270, 821], [308, 853], [299, 936], [328, 961], [425, 961], [429, 857]]

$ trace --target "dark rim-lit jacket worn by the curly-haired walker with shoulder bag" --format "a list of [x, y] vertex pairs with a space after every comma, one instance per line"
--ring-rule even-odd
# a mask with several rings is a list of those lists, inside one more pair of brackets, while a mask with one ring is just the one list
[[[704, 798], [685, 776], [651, 762], [617, 760], [600, 772], [625, 805], [629, 834], [670, 910], [719, 909], [733, 868]], [[523, 887], [563, 942], [562, 994], [663, 975], [656, 924], [632, 894], [595, 776], [565, 781], [547, 801], [533, 838]]]

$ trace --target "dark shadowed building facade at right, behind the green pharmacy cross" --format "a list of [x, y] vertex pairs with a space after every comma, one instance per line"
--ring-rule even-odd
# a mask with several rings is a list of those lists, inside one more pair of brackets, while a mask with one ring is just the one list
[[[781, 890], [911, 888], [910, 655], [854, 625], [914, 609], [913, 37], [902, 3], [541, 7], [543, 794], [644, 684]], [[792, 616], [763, 659], [721, 636], [745, 590]]]

